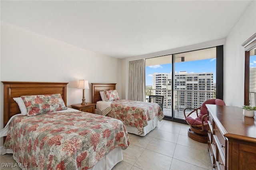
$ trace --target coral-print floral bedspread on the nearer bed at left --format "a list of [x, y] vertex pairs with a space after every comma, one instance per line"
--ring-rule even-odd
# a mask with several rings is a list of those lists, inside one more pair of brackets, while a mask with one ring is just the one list
[[28, 169], [89, 169], [130, 144], [122, 121], [85, 112], [16, 116], [4, 143]]

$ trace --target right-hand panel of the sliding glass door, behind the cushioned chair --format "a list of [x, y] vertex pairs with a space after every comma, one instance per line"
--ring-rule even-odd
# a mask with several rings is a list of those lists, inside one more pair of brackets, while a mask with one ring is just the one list
[[216, 98], [216, 48], [175, 54], [174, 67], [173, 117], [184, 119], [185, 108], [198, 108]]

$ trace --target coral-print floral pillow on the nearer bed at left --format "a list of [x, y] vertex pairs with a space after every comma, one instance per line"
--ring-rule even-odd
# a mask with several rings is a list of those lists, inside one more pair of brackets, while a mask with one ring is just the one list
[[60, 94], [20, 96], [28, 116], [68, 109]]

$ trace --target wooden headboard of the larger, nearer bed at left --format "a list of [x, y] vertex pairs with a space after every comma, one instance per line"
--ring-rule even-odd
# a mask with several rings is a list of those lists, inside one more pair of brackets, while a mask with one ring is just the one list
[[4, 126], [20, 109], [13, 98], [25, 95], [60, 94], [67, 106], [67, 84], [58, 82], [2, 82], [4, 84]]

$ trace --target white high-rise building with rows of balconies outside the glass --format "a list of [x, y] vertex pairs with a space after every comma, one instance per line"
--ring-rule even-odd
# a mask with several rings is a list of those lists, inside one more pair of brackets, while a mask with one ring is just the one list
[[[164, 96], [164, 108], [172, 108], [172, 73], [154, 73], [152, 88], [156, 89], [154, 95]], [[213, 73], [179, 72], [175, 74], [174, 89], [175, 109], [197, 108], [215, 98]]]

